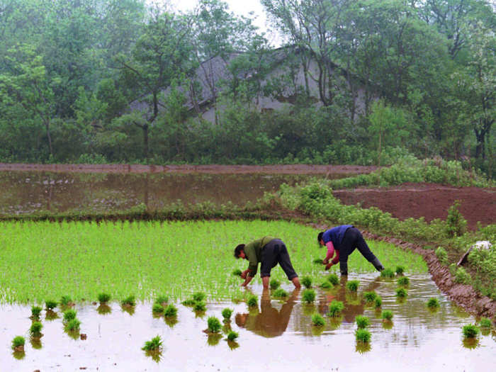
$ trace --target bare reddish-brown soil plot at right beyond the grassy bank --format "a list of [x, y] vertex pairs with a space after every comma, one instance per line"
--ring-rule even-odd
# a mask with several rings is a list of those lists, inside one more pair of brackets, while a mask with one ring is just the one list
[[446, 220], [448, 209], [460, 201], [460, 212], [470, 230], [477, 222], [485, 225], [496, 223], [496, 189], [453, 187], [439, 184], [402, 184], [381, 188], [356, 188], [335, 190], [333, 194], [346, 205], [360, 203], [362, 208], [377, 207], [393, 217], [421, 218], [427, 222], [439, 218]]

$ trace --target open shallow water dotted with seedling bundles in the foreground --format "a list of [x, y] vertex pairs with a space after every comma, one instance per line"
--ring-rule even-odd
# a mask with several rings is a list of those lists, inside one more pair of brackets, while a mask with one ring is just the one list
[[[317, 290], [313, 305], [301, 301], [301, 293], [286, 290], [291, 298], [274, 300], [254, 287], [259, 305], [249, 310], [244, 303], [208, 303], [204, 314], [176, 303], [174, 322], [152, 316], [152, 305], [140, 303], [133, 313], [117, 303], [111, 312], [101, 314], [98, 305], [76, 306], [81, 333], [64, 332], [62, 320], [45, 319], [40, 344], [29, 341], [30, 308], [0, 306], [1, 371], [490, 371], [496, 362], [494, 331], [478, 337], [475, 344], [464, 344], [461, 327], [475, 319], [459, 310], [439, 293], [429, 275], [408, 275], [410, 287], [405, 302], [395, 298], [395, 281], [377, 274], [350, 275], [361, 283], [358, 295], [344, 290], [344, 282], [329, 291]], [[392, 310], [393, 323], [385, 327], [379, 313], [363, 304], [363, 291], [376, 291], [383, 298], [383, 309]], [[429, 298], [438, 298], [436, 312], [427, 309]], [[321, 329], [312, 327], [314, 312], [325, 315], [333, 299], [343, 300], [341, 319]], [[235, 311], [230, 327], [239, 333], [235, 343], [225, 334], [208, 337], [203, 331], [211, 315], [230, 307]], [[58, 310], [58, 309], [57, 309]], [[60, 311], [59, 314], [61, 315]], [[371, 319], [372, 338], [366, 347], [356, 344], [356, 315]], [[174, 324], [175, 323], [175, 324]], [[26, 337], [26, 351], [16, 359], [10, 349], [18, 334]], [[159, 335], [164, 341], [162, 354], [147, 356], [141, 347]], [[19, 357], [19, 356], [18, 356]], [[84, 368], [84, 369], [83, 369]]]

